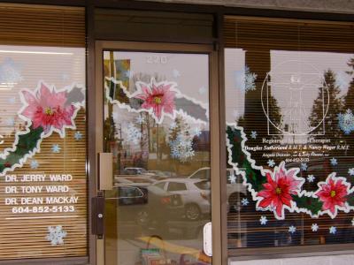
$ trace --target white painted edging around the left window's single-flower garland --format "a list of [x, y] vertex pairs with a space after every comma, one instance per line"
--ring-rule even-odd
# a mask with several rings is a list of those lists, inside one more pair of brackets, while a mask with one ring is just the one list
[[[14, 152], [14, 151], [17, 149], [17, 145], [18, 145], [18, 143], [19, 143], [19, 136], [25, 135], [25, 134], [27, 134], [27, 133], [30, 132], [29, 127], [32, 125], [32, 121], [31, 121], [28, 117], [25, 117], [25, 116], [21, 115], [21, 112], [22, 112], [23, 110], [25, 110], [25, 109], [27, 108], [27, 106], [28, 106], [28, 104], [27, 104], [27, 102], [26, 102], [26, 100], [25, 100], [25, 98], [24, 98], [24, 95], [22, 94], [22, 91], [27, 91], [28, 93], [30, 93], [30, 94], [32, 94], [32, 95], [34, 95], [34, 96], [36, 97], [36, 95], [40, 95], [40, 94], [38, 94], [38, 93], [40, 92], [40, 89], [41, 89], [41, 87], [42, 87], [42, 84], [43, 84], [45, 87], [48, 87], [48, 88], [50, 89], [50, 92], [55, 91], [56, 93], [58, 93], [58, 92], [66, 92], [66, 93], [69, 93], [74, 87], [78, 87], [78, 88], [81, 88], [81, 89], [84, 88], [83, 86], [81, 86], [81, 85], [79, 85], [79, 84], [73, 83], [73, 84], [70, 85], [70, 86], [66, 86], [66, 87], [64, 87], [64, 88], [62, 88], [62, 89], [60, 89], [60, 90], [57, 90], [54, 85], [52, 85], [51, 87], [50, 87], [50, 86], [47, 86], [44, 81], [40, 80], [40, 81], [38, 82], [37, 87], [35, 88], [35, 91], [32, 92], [31, 90], [29, 90], [29, 89], [27, 89], [27, 88], [20, 90], [19, 98], [20, 98], [20, 101], [23, 103], [23, 106], [22, 106], [22, 108], [18, 111], [18, 116], [19, 116], [21, 119], [23, 119], [25, 122], [27, 122], [26, 130], [25, 130], [25, 131], [20, 131], [20, 132], [18, 132], [18, 133], [15, 133], [15, 141], [12, 143], [12, 148], [5, 148], [4, 151], [0, 154], [0, 158], [6, 159], [6, 156], [9, 155], [10, 152]], [[41, 136], [40, 136], [41, 138], [40, 138], [40, 140], [37, 141], [35, 148], [33, 148], [32, 150], [30, 150], [30, 151], [28, 152], [28, 154], [26, 154], [26, 155], [24, 155], [23, 157], [21, 157], [21, 158], [19, 159], [19, 163], [13, 164], [11, 168], [5, 168], [5, 169], [3, 170], [3, 172], [0, 173], [0, 176], [4, 176], [8, 171], [13, 171], [13, 170], [15, 170], [16, 168], [22, 167], [23, 164], [26, 163], [27, 158], [31, 158], [31, 157], [32, 157], [33, 155], [35, 155], [36, 153], [40, 152], [42, 140], [43, 140], [44, 138], [50, 137], [50, 135], [51, 135], [53, 132], [57, 132], [57, 133], [60, 135], [61, 138], [65, 138], [65, 129], [66, 129], [66, 128], [67, 128], [67, 129], [73, 129], [73, 130], [75, 130], [75, 129], [76, 129], [76, 125], [75, 125], [75, 123], [74, 123], [74, 119], [76, 118], [78, 111], [81, 109], [81, 107], [84, 106], [84, 104], [85, 104], [85, 100], [83, 100], [82, 102], [73, 103], [73, 106], [74, 106], [74, 108], [75, 108], [75, 110], [73, 111], [73, 116], [72, 116], [72, 118], [71, 118], [71, 121], [72, 121], [72, 124], [73, 124], [73, 125], [65, 125], [65, 126], [63, 126], [63, 130], [58, 130], [58, 129], [55, 129], [55, 128], [53, 128], [53, 127], [51, 126], [49, 133], [44, 133], [44, 132], [42, 132], [42, 133], [41, 133]]]

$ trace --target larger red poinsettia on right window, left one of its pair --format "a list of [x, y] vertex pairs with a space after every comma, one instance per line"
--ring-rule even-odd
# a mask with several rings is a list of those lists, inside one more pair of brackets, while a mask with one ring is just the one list
[[266, 173], [265, 189], [258, 192], [257, 207], [271, 209], [278, 219], [284, 218], [284, 208], [292, 209], [292, 195], [300, 192], [304, 184], [303, 178], [297, 178], [299, 169], [285, 169], [285, 163], [275, 167], [273, 172]]

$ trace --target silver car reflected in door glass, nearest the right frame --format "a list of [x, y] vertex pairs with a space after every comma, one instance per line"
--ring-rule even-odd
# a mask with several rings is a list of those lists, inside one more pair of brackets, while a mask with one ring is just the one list
[[180, 194], [185, 216], [189, 220], [200, 219], [211, 213], [210, 181], [188, 178], [172, 178], [158, 181], [154, 186], [173, 194]]

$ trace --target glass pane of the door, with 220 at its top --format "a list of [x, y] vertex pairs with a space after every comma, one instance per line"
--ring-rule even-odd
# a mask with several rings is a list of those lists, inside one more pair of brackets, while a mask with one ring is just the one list
[[106, 50], [103, 64], [106, 264], [211, 264], [209, 56]]

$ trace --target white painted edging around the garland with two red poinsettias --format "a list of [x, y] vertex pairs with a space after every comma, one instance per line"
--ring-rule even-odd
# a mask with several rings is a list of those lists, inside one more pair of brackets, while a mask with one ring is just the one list
[[[274, 174], [275, 170], [278, 170], [278, 169], [280, 169], [282, 166], [285, 165], [285, 162], [282, 161], [282, 162], [280, 163], [280, 166], [279, 166], [279, 167], [278, 167], [278, 166], [274, 167], [274, 170], [273, 170], [273, 171], [271, 171], [271, 170], [265, 170], [265, 169], [263, 168], [263, 166], [258, 166], [258, 165], [256, 165], [256, 161], [251, 158], [250, 152], [245, 149], [245, 142], [247, 141], [247, 137], [246, 137], [246, 134], [245, 134], [244, 131], [243, 131], [243, 128], [242, 128], [241, 126], [238, 126], [236, 123], [227, 123], [227, 126], [229, 126], [232, 130], [235, 130], [235, 129], [236, 129], [236, 130], [239, 130], [239, 131], [240, 131], [241, 137], [242, 137], [242, 141], [241, 141], [242, 153], [246, 155], [246, 158], [247, 158], [248, 162], [250, 163], [251, 168], [254, 169], [254, 170], [260, 170], [260, 173], [261, 173], [261, 175], [262, 175], [264, 178], [266, 178], [266, 173], [270, 173], [270, 174], [272, 175], [272, 177], [273, 177], [273, 174]], [[268, 207], [268, 208], [260, 208], [260, 207], [258, 207], [258, 204], [259, 204], [259, 202], [260, 202], [259, 200], [263, 200], [263, 197], [258, 197], [258, 196], [257, 196], [258, 192], [256, 192], [256, 191], [253, 189], [252, 185], [247, 182], [247, 178], [246, 178], [246, 173], [245, 173], [245, 171], [242, 170], [242, 168], [239, 168], [239, 167], [238, 167], [238, 163], [233, 163], [233, 161], [232, 161], [232, 148], [234, 147], [234, 145], [230, 143], [230, 140], [228, 139], [227, 133], [226, 133], [226, 137], [227, 137], [227, 157], [228, 157], [227, 163], [233, 167], [233, 169], [235, 170], [236, 174], [239, 174], [239, 175], [242, 176], [242, 179], [243, 179], [242, 185], [243, 185], [243, 186], [246, 186], [247, 190], [251, 193], [251, 195], [252, 195], [252, 200], [253, 200], [253, 201], [257, 201], [257, 204], [256, 204], [256, 209], [257, 209], [257, 210], [261, 210], [261, 211], [266, 211], [266, 210], [273, 211], [273, 214], [274, 214], [275, 218], [278, 219], [278, 220], [283, 220], [283, 219], [285, 218], [284, 208], [287, 208], [290, 213], [293, 213], [293, 212], [296, 212], [296, 213], [305, 213], [305, 214], [311, 216], [312, 218], [319, 218], [319, 216], [323, 216], [324, 214], [327, 214], [327, 215], [330, 216], [332, 219], [334, 219], [335, 216], [337, 216], [337, 210], [335, 211], [335, 215], [332, 215], [330, 212], [328, 212], [329, 210], [320, 210], [318, 214], [314, 215], [314, 214], [312, 214], [312, 212], [311, 212], [308, 208], [298, 208], [295, 201], [291, 201], [291, 208], [289, 208], [288, 206], [284, 205], [284, 207], [283, 207], [283, 209], [282, 209], [282, 213], [281, 213], [281, 216], [282, 216], [282, 217], [281, 217], [281, 216], [277, 216], [276, 211], [275, 211], [275, 209], [273, 209], [273, 208], [270, 208], [270, 207]], [[291, 169], [289, 169], [289, 170], [296, 170], [296, 174], [300, 171], [299, 168], [291, 168]], [[287, 172], [289, 172], [289, 170], [287, 170]], [[296, 175], [296, 174], [295, 174], [295, 175]], [[327, 176], [326, 182], [323, 182], [323, 181], [322, 181], [322, 182], [319, 182], [319, 183], [318, 183], [318, 186], [319, 186], [320, 184], [327, 183], [327, 181], [328, 181], [329, 178], [335, 178], [335, 180], [342, 179], [343, 182], [345, 182], [345, 184], [348, 184], [348, 182], [346, 182], [346, 178], [335, 177], [335, 175], [336, 175], [336, 173], [335, 173], [335, 172], [332, 172], [331, 174], [329, 174], [329, 175]], [[301, 180], [303, 180], [303, 181], [305, 182], [305, 178], [297, 178], [297, 177], [296, 177], [296, 180], [298, 180], [298, 179], [301, 179]], [[304, 185], [304, 182], [301, 184], [301, 186]], [[319, 189], [320, 189], [320, 186], [319, 186]], [[297, 194], [298, 194], [298, 197], [299, 197], [299, 198], [305, 196], [305, 197], [309, 197], [309, 198], [319, 199], [318, 196], [315, 195], [315, 193], [318, 193], [318, 191], [319, 191], [319, 190], [317, 190], [316, 192], [308, 192], [308, 191], [306, 191], [306, 190], [302, 190], [301, 192], [298, 192]], [[350, 189], [350, 186], [348, 186], [347, 192], [348, 192], [348, 195], [350, 195], [350, 193], [354, 193], [354, 186], [353, 186], [351, 189]], [[336, 209], [342, 210], [342, 211], [344, 211], [345, 213], [349, 213], [350, 210], [354, 210], [354, 206], [350, 206], [350, 205], [348, 204], [348, 202], [346, 202], [345, 207], [336, 207]]]

